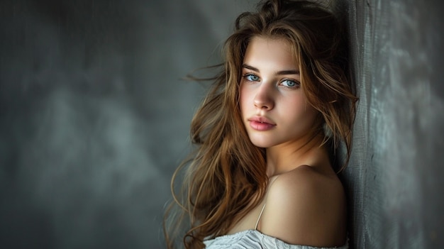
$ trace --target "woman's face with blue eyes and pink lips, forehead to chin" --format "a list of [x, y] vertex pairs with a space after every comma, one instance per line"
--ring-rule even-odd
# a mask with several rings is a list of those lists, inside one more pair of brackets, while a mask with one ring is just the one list
[[289, 43], [255, 37], [245, 52], [240, 82], [240, 111], [254, 145], [304, 143], [317, 111], [301, 89], [299, 66]]

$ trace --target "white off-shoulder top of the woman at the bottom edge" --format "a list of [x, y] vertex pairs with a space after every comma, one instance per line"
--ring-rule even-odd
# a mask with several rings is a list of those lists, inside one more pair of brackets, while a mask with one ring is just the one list
[[[308, 245], [290, 245], [282, 240], [267, 236], [257, 230], [246, 230], [226, 236], [219, 236], [212, 240], [205, 240], [206, 249], [333, 249], [316, 248]], [[338, 249], [347, 249], [348, 243]]]

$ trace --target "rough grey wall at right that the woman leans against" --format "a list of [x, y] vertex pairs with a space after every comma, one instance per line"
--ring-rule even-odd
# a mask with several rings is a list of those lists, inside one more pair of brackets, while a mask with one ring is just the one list
[[443, 6], [348, 5], [360, 95], [345, 172], [356, 248], [444, 248]]

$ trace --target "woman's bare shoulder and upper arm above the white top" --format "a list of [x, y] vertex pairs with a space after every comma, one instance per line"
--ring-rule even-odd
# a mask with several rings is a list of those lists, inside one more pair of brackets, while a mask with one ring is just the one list
[[345, 243], [345, 206], [338, 177], [300, 166], [270, 185], [260, 231], [291, 244], [340, 246]]

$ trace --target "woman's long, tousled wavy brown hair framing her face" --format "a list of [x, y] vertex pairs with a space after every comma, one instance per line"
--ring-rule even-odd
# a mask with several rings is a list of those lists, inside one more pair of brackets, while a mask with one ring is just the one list
[[[172, 179], [172, 205], [179, 210], [168, 209], [165, 215], [168, 248], [174, 247], [183, 226], [185, 248], [204, 248], [204, 238], [226, 234], [265, 194], [265, 150], [250, 142], [238, 103], [243, 57], [257, 35], [283, 38], [292, 45], [307, 101], [320, 113], [319, 127], [329, 130], [324, 140], [333, 149], [343, 141], [347, 156], [340, 170], [348, 162], [357, 97], [350, 87], [338, 19], [311, 1], [262, 1], [256, 13], [236, 19], [235, 31], [224, 45], [222, 72], [192, 120], [196, 150]], [[174, 182], [181, 170], [183, 187], [176, 193]]]

